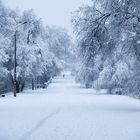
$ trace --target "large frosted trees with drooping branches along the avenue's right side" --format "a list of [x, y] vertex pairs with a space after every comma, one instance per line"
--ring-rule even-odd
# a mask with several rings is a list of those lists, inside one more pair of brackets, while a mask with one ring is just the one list
[[110, 94], [140, 95], [140, 1], [92, 0], [74, 13], [77, 81]]

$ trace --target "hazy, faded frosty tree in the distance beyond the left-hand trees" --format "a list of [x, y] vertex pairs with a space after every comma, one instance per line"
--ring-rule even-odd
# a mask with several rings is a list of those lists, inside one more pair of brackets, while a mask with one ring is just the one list
[[72, 41], [65, 29], [57, 27], [47, 27], [47, 38], [49, 50], [53, 52], [63, 68], [67, 67], [72, 58]]

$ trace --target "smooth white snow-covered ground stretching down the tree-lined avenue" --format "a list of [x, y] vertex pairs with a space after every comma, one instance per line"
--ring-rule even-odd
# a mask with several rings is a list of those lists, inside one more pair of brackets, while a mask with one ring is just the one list
[[140, 100], [58, 77], [48, 89], [0, 98], [0, 140], [140, 140]]

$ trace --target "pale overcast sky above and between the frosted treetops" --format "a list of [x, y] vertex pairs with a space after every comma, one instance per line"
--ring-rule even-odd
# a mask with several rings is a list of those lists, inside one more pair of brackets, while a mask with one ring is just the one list
[[71, 31], [71, 12], [90, 0], [3, 0], [5, 5], [21, 11], [34, 9], [48, 25], [57, 25]]

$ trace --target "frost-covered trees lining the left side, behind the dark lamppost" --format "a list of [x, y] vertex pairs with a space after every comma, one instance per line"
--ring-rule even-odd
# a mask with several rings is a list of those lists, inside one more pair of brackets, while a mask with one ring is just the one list
[[[17, 92], [40, 79], [47, 82], [65, 66], [71, 39], [64, 29], [44, 26], [33, 10], [20, 13], [0, 1], [0, 92], [14, 84], [14, 46], [17, 47]], [[6, 90], [6, 91], [5, 91]]]

